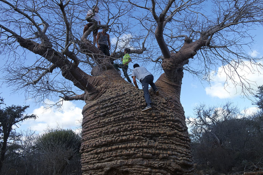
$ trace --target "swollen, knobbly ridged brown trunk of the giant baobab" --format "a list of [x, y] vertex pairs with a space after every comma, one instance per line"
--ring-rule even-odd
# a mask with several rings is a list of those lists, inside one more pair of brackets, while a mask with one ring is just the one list
[[143, 90], [117, 73], [105, 72], [96, 99], [83, 108], [81, 164], [85, 175], [192, 174], [192, 156], [183, 107], [180, 103], [182, 71], [178, 83], [163, 74], [150, 89], [153, 109]]

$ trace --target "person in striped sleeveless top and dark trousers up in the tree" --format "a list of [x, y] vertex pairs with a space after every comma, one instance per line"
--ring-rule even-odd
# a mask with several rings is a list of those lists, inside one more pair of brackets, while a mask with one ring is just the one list
[[104, 28], [97, 34], [97, 47], [106, 55], [110, 56], [110, 35], [107, 34], [109, 28]]

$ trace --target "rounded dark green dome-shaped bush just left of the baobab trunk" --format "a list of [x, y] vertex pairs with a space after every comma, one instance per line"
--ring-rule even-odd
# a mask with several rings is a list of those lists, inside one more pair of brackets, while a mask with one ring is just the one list
[[70, 160], [79, 154], [80, 135], [69, 129], [49, 130], [37, 138], [35, 147], [38, 162], [42, 162], [40, 172], [61, 175]]

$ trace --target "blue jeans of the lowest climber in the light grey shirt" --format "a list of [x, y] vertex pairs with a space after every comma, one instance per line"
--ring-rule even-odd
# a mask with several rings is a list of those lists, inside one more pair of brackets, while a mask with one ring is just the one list
[[153, 75], [147, 75], [146, 77], [144, 77], [144, 79], [141, 80], [141, 84], [142, 84], [142, 89], [144, 92], [145, 102], [147, 103], [147, 106], [149, 106], [152, 104], [152, 101], [150, 98], [148, 87], [149, 85], [151, 85], [151, 87], [153, 88], [153, 91], [157, 89], [153, 82]]

